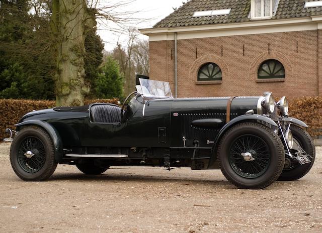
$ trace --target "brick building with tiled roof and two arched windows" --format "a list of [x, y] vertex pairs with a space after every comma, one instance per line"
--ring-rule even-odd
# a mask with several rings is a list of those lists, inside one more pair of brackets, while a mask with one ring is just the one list
[[191, 0], [140, 31], [178, 97], [322, 95], [322, 1]]

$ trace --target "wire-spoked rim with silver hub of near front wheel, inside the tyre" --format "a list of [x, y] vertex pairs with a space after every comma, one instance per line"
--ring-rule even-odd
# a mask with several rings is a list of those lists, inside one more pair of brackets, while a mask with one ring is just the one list
[[257, 178], [270, 166], [270, 149], [267, 143], [256, 135], [241, 135], [232, 142], [228, 161], [239, 176]]

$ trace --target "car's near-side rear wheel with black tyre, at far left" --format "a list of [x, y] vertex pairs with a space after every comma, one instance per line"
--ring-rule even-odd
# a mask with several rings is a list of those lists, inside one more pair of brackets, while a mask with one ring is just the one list
[[[33, 154], [31, 158], [27, 158], [28, 152]], [[19, 131], [10, 148], [10, 162], [17, 176], [24, 181], [48, 179], [57, 167], [48, 133], [34, 126]]]

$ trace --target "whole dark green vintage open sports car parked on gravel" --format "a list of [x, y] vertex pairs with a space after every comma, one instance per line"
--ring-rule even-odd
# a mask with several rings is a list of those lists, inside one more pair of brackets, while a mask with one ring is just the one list
[[[94, 103], [25, 114], [11, 149], [17, 175], [44, 180], [57, 163], [76, 165], [86, 174], [110, 166], [190, 167], [221, 169], [238, 187], [263, 188], [289, 171], [284, 179], [302, 177], [314, 162], [307, 126], [288, 117], [285, 97], [278, 103], [270, 92], [173, 98], [169, 83], [140, 83], [122, 107]], [[293, 138], [292, 131], [299, 136]], [[38, 166], [31, 164], [33, 159]]]

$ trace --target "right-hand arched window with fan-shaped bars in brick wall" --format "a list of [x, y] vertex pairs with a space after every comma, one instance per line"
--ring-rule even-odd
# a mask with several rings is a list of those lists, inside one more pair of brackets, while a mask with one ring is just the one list
[[282, 63], [269, 59], [264, 61], [258, 68], [258, 76], [261, 78], [285, 78], [285, 69]]

